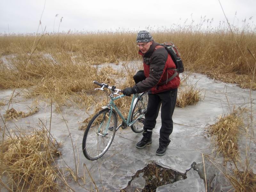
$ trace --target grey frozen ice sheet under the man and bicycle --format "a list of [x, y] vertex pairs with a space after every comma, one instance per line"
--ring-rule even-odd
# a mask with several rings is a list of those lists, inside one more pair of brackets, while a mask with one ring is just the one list
[[[186, 74], [184, 74], [186, 75]], [[57, 160], [60, 168], [67, 168], [66, 164], [76, 171], [75, 159], [71, 139], [75, 145], [76, 165], [78, 166], [77, 172], [79, 177], [84, 177], [85, 170], [85, 183], [79, 179], [80, 185], [69, 176], [68, 182], [75, 191], [86, 191], [86, 189], [96, 191], [89, 174], [87, 173], [84, 164], [89, 169], [93, 180], [96, 183], [99, 191], [120, 191], [120, 189], [127, 187], [128, 182], [132, 176], [138, 171], [143, 169], [148, 163], [155, 161], [157, 164], [166, 168], [172, 168], [178, 172], [185, 173], [193, 162], [196, 162], [197, 169], [202, 169], [202, 153], [211, 154], [212, 149], [215, 147], [211, 144], [211, 137], [205, 134], [205, 128], [209, 124], [215, 123], [223, 113], [230, 112], [230, 108], [234, 105], [250, 107], [250, 92], [248, 89], [241, 89], [235, 84], [226, 84], [209, 79], [205, 75], [193, 73], [189, 76], [188, 82], [196, 84], [202, 89], [202, 97], [196, 105], [188, 106], [186, 108], [175, 108], [173, 114], [174, 129], [171, 134], [171, 144], [168, 151], [164, 156], [156, 156], [156, 149], [158, 148], [159, 129], [161, 127], [161, 114], [157, 118], [156, 128], [153, 134], [153, 143], [144, 149], [137, 149], [135, 145], [142, 138], [142, 134], [136, 134], [131, 129], [118, 130], [114, 141], [107, 151], [107, 153], [96, 161], [87, 160], [82, 153], [82, 137], [83, 131], [78, 130], [78, 127], [83, 125], [81, 123], [88, 114], [82, 109], [64, 108], [62, 115], [53, 111], [51, 133], [58, 142], [62, 142], [63, 146], [60, 148], [62, 158]], [[90, 82], [88, 82], [90, 83]], [[19, 90], [16, 91], [18, 93]], [[12, 90], [4, 90], [0, 92], [0, 101], [7, 103]], [[256, 92], [252, 91], [252, 109], [253, 121], [255, 119], [255, 99]], [[47, 122], [46, 127], [49, 128], [51, 107], [49, 103], [44, 101], [38, 102], [40, 111], [33, 116], [19, 119], [15, 122], [8, 122], [8, 130], [12, 132], [19, 131], [19, 129], [30, 130], [39, 127], [39, 119], [44, 123]], [[18, 111], [29, 111], [29, 107], [35, 104], [35, 100], [24, 99], [21, 95], [17, 94], [11, 104], [11, 108]], [[5, 114], [7, 105], [0, 106], [1, 115]], [[160, 112], [161, 113], [161, 112]], [[62, 117], [63, 116], [63, 117]], [[65, 121], [67, 125], [65, 124]], [[0, 121], [0, 126], [3, 128], [3, 122]], [[68, 133], [67, 126], [71, 132]], [[253, 125], [255, 129], [255, 124]], [[1, 134], [2, 136], [2, 134]], [[255, 137], [254, 137], [255, 138]], [[241, 155], [244, 155], [245, 143], [247, 140], [243, 136], [239, 140]], [[78, 153], [77, 153], [78, 151]], [[256, 173], [256, 147], [255, 140], [251, 144], [251, 166], [254, 173]], [[212, 154], [214, 156], [215, 154]], [[218, 157], [222, 160], [221, 157]], [[221, 163], [221, 161], [220, 161]], [[200, 166], [201, 165], [201, 166]], [[231, 186], [221, 176], [220, 172], [209, 162], [205, 162], [206, 178], [210, 178], [216, 174], [212, 180], [212, 187], [215, 191], [228, 191]], [[68, 174], [68, 172], [67, 172]], [[204, 181], [200, 179], [198, 173], [191, 169], [187, 172], [187, 179], [161, 186], [157, 191], [205, 191]], [[145, 181], [140, 177], [133, 180], [133, 189], [136, 186], [143, 188]], [[85, 189], [86, 188], [86, 189]]]

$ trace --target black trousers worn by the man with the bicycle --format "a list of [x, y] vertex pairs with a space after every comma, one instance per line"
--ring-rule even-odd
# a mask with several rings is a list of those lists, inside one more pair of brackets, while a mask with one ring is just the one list
[[156, 125], [156, 118], [161, 108], [162, 126], [160, 129], [159, 144], [168, 146], [171, 140], [169, 136], [172, 133], [173, 121], [172, 114], [177, 100], [178, 89], [173, 89], [164, 93], [148, 94], [148, 108], [145, 114], [144, 130], [152, 130]]

